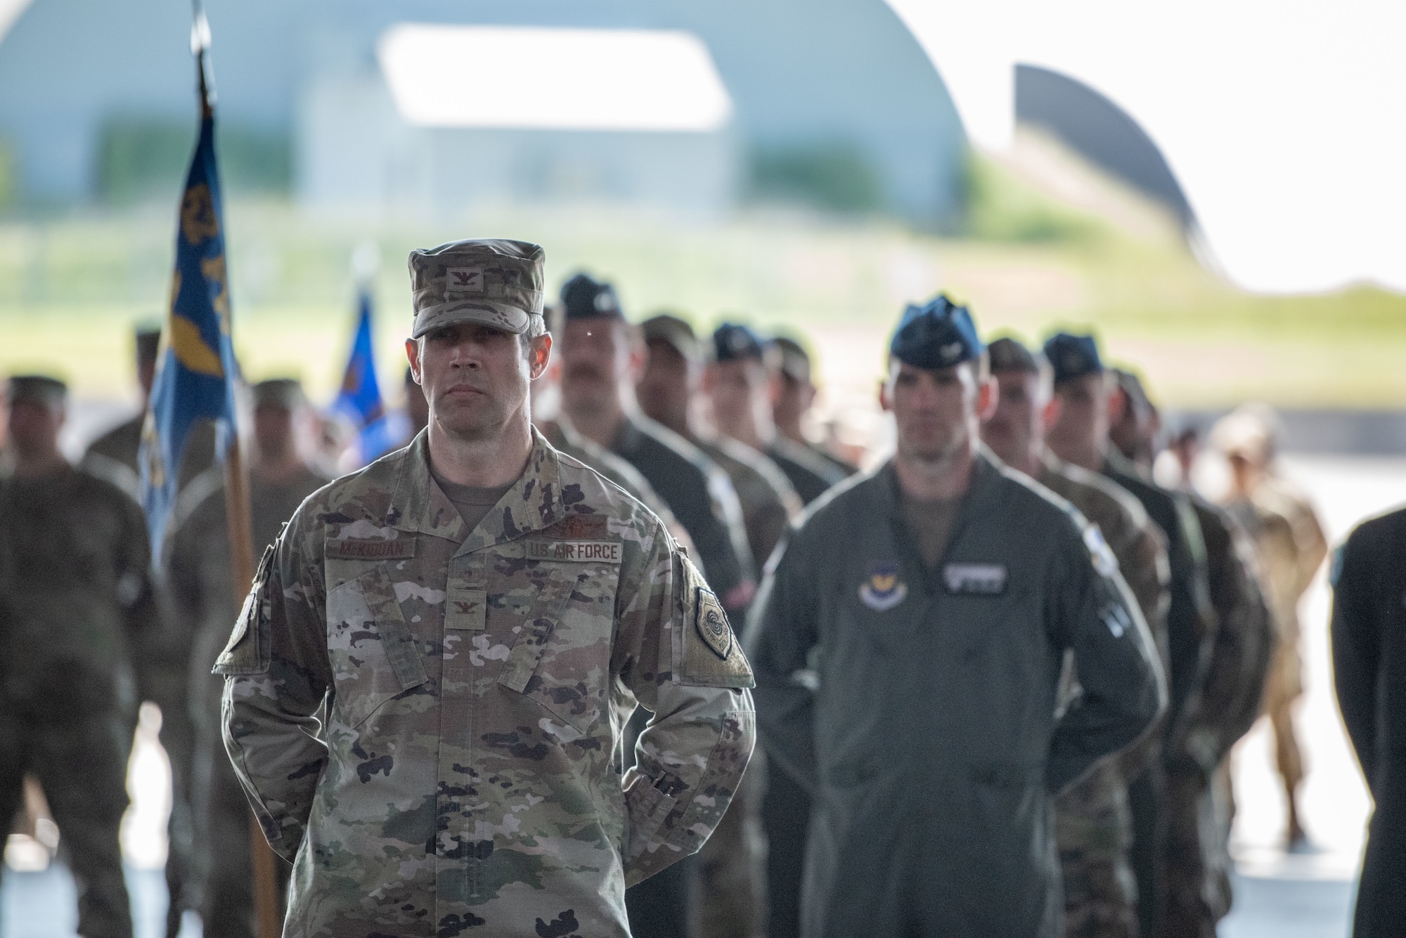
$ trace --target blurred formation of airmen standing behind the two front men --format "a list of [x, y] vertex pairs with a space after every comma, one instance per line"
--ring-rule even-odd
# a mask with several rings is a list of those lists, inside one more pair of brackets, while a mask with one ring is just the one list
[[[950, 319], [945, 300], [935, 305]], [[803, 348], [734, 324], [702, 343], [671, 315], [636, 330], [614, 291], [586, 275], [564, 286], [553, 315], [561, 354], [533, 383], [538, 430], [654, 508], [692, 545], [740, 621], [752, 604], [759, 562], [773, 556], [803, 506], [853, 473], [800, 432], [815, 393]], [[139, 352], [149, 386], [153, 338], [139, 338]], [[1251, 413], [1222, 434], [1241, 482], [1226, 511], [1152, 484], [1156, 411], [1132, 375], [1105, 369], [1091, 338], [1060, 334], [1043, 354], [1000, 338], [988, 362], [1000, 393], [983, 441], [1098, 525], [1168, 675], [1160, 730], [1101, 761], [1056, 805], [1064, 931], [1213, 935], [1230, 901], [1226, 754], [1258, 715], [1267, 678], [1265, 706], [1294, 803], [1299, 769], [1286, 713], [1298, 692], [1295, 608], [1322, 560], [1322, 532], [1303, 500], [1272, 476], [1272, 441]], [[413, 383], [408, 390], [419, 430], [423, 399], [416, 400]], [[700, 393], [710, 418], [697, 406]], [[10, 402], [18, 470], [3, 489], [3, 543], [4, 572], [13, 577], [6, 640], [14, 653], [6, 657], [10, 718], [0, 741], [18, 758], [4, 760], [0, 810], [7, 814], [0, 816], [14, 813], [18, 775], [37, 775], [79, 880], [82, 934], [129, 934], [117, 824], [127, 803], [134, 704], [156, 702], [174, 786], [169, 930], [179, 928], [183, 909], [198, 909], [207, 934], [250, 934], [247, 806], [221, 744], [221, 685], [209, 675], [238, 608], [222, 479], [209, 465], [212, 434], [193, 442], [170, 546], [157, 564], [162, 573], [150, 577], [141, 514], [121, 493], [135, 480], [139, 423], [94, 442], [83, 470], [75, 470], [56, 447], [62, 385], [13, 379]], [[291, 381], [253, 389], [250, 477], [260, 549], [325, 482], [295, 444], [302, 403]], [[897, 514], [920, 569], [941, 567], [959, 508], [955, 500], [901, 500]], [[904, 564], [876, 569], [869, 608], [897, 605], [890, 602], [901, 600], [908, 577]], [[759, 628], [765, 633], [765, 623]], [[768, 652], [775, 647], [756, 647], [759, 678], [768, 667], [789, 668], [787, 680], [807, 670], [806, 660], [778, 654], [773, 661]], [[908, 682], [907, 675], [894, 680]], [[1080, 692], [1066, 664], [1060, 706]], [[903, 727], [889, 729], [901, 737]], [[762, 730], [765, 741], [765, 715]], [[754, 762], [735, 806], [696, 858], [627, 893], [636, 934], [799, 934], [814, 785], [803, 761], [783, 748]], [[1292, 813], [1291, 834], [1302, 835]], [[922, 835], [917, 824], [887, 848], [903, 862], [903, 840]], [[853, 879], [856, 889], [883, 892], [907, 878], [872, 872]], [[984, 887], [993, 890], [988, 901], [1001, 901], [998, 885]]]

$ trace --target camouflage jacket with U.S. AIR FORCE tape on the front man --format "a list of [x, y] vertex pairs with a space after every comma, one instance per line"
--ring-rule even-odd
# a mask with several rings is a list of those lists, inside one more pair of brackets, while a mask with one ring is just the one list
[[[755, 733], [686, 555], [536, 432], [472, 531], [423, 432], [315, 493], [215, 670], [226, 748], [294, 861], [285, 935], [626, 935], [626, 886], [703, 844]], [[655, 716], [631, 757], [637, 702]]]

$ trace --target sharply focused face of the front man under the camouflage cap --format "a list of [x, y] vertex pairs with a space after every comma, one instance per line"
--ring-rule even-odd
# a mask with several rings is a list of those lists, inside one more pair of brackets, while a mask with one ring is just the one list
[[524, 351], [513, 333], [453, 323], [406, 340], [405, 351], [429, 400], [430, 423], [463, 440], [485, 440], [524, 413], [529, 383], [547, 366], [551, 337], [533, 338]]

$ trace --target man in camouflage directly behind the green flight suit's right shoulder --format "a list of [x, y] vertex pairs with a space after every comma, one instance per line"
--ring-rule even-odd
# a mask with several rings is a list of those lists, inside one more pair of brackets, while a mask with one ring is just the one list
[[[991, 375], [1000, 386], [997, 409], [981, 440], [1019, 469], [1080, 510], [1098, 527], [1118, 569], [1137, 600], [1167, 664], [1167, 550], [1157, 527], [1136, 498], [1102, 476], [1060, 462], [1045, 448], [1045, 410], [1053, 375], [1043, 355], [1014, 338], [988, 345]], [[1077, 694], [1070, 668], [1066, 696]], [[1132, 816], [1128, 778], [1143, 772], [1160, 751], [1149, 733], [1116, 758], [1099, 762], [1054, 802], [1054, 838], [1064, 879], [1064, 934], [1069, 938], [1136, 938], [1137, 883], [1129, 864]]]

